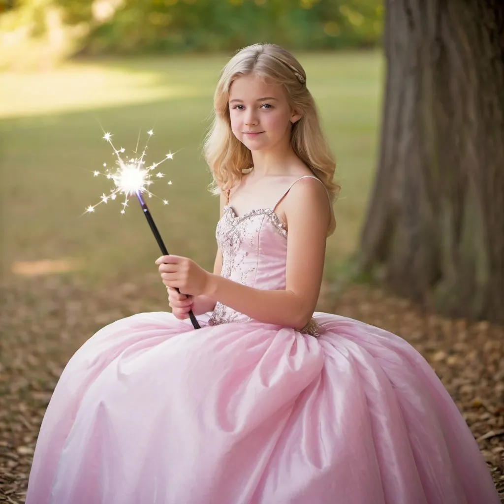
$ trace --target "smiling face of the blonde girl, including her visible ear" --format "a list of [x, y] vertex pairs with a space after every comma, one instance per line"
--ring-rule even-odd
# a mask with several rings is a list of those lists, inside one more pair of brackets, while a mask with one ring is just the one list
[[285, 148], [292, 124], [301, 116], [291, 110], [285, 88], [255, 74], [236, 79], [229, 90], [234, 136], [251, 151]]

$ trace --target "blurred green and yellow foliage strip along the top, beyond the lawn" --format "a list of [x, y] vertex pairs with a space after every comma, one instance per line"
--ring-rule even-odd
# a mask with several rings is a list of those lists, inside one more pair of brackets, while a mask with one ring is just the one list
[[258, 41], [372, 47], [383, 31], [381, 0], [3, 0], [0, 13], [11, 54], [20, 41], [64, 56], [228, 51]]

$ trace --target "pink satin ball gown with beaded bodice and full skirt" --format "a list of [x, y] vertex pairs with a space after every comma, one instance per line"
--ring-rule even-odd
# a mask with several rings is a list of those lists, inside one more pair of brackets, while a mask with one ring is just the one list
[[[217, 225], [222, 275], [284, 289], [265, 208]], [[27, 504], [498, 504], [478, 446], [406, 341], [316, 312], [306, 331], [217, 304], [98, 331], [47, 407]]]

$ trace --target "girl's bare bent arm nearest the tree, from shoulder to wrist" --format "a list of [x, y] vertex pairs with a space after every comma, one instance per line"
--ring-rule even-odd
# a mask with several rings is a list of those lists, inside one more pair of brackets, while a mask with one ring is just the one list
[[319, 298], [332, 214], [325, 187], [311, 178], [294, 184], [284, 208], [288, 223], [285, 290], [255, 289], [214, 273], [208, 274], [204, 294], [252, 319], [300, 330]]

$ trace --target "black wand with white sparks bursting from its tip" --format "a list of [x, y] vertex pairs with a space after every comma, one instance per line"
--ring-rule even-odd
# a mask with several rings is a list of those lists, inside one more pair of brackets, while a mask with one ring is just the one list
[[[114, 151], [114, 155], [117, 158], [115, 161], [116, 169], [112, 171], [111, 169], [107, 168], [104, 173], [101, 173], [100, 171], [94, 171], [93, 175], [95, 177], [97, 177], [98, 175], [105, 175], [108, 179], [113, 181], [114, 187], [109, 194], [106, 195], [105, 193], [103, 193], [101, 200], [96, 205], [89, 205], [86, 208], [85, 213], [93, 213], [95, 211], [95, 208], [101, 203], [107, 203], [109, 200], [115, 200], [117, 198], [117, 195], [124, 195], [124, 201], [121, 203], [121, 214], [124, 214], [126, 208], [128, 207], [129, 198], [135, 195], [138, 199], [138, 202], [140, 203], [140, 206], [142, 207], [142, 210], [144, 211], [145, 218], [149, 223], [152, 234], [156, 238], [157, 244], [161, 249], [161, 253], [163, 254], [163, 256], [168, 256], [168, 249], [166, 248], [163, 239], [159, 234], [158, 228], [142, 195], [145, 193], [149, 198], [155, 196], [149, 190], [149, 187], [154, 183], [154, 180], [152, 180], [152, 177], [154, 175], [153, 172], [154, 170], [157, 170], [157, 167], [167, 159], [173, 159], [173, 154], [169, 152], [168, 154], [166, 154], [165, 158], [158, 163], [153, 163], [152, 165], [146, 167], [144, 157], [147, 152], [149, 139], [152, 137], [152, 135], [154, 135], [154, 132], [152, 130], [149, 130], [147, 132], [147, 135], [149, 137], [140, 157], [130, 157], [126, 158], [126, 160], [123, 160], [121, 157], [121, 154], [124, 153], [125, 149], [122, 147], [120, 149], [116, 149], [113, 146], [111, 140], [112, 135], [110, 133], [105, 133], [103, 135], [103, 140], [106, 140], [110, 144]], [[137, 149], [134, 151], [135, 154], [137, 153], [137, 150], [138, 144]], [[106, 168], [106, 163], [103, 163], [103, 166]], [[161, 179], [164, 178], [164, 173], [157, 171], [155, 176], [156, 178]], [[168, 181], [168, 185], [171, 185], [171, 180]], [[167, 200], [163, 200], [163, 203], [165, 205], [168, 205]], [[180, 293], [178, 289], [177, 292]], [[191, 319], [194, 328], [200, 329], [200, 325], [196, 320], [193, 310], [189, 312], [189, 318]]]

